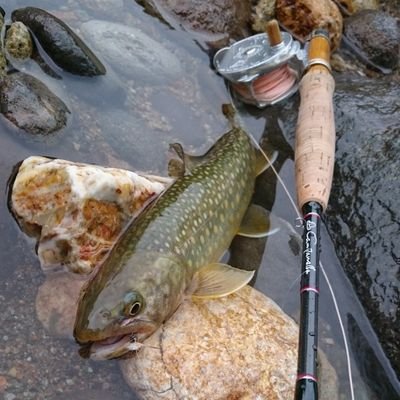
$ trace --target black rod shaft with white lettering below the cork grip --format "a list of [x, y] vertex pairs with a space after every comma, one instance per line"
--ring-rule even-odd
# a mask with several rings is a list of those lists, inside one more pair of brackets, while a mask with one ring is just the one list
[[317, 400], [318, 296], [322, 207], [311, 201], [303, 212], [303, 253], [300, 282], [299, 358], [295, 400]]

